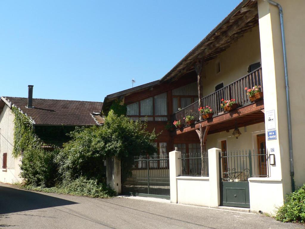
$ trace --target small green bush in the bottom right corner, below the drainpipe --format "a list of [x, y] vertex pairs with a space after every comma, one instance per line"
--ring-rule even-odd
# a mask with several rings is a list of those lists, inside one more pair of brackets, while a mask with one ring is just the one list
[[278, 209], [275, 219], [282, 222], [305, 222], [305, 184], [286, 197], [285, 204]]

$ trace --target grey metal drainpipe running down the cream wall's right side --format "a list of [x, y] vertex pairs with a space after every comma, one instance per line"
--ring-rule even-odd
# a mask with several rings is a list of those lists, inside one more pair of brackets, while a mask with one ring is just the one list
[[291, 114], [290, 114], [290, 96], [289, 96], [289, 83], [288, 83], [288, 69], [287, 69], [287, 55], [286, 55], [286, 42], [284, 32], [284, 20], [282, 6], [271, 0], [264, 0], [278, 7], [280, 14], [280, 24], [282, 33], [282, 45], [283, 45], [283, 57], [284, 57], [284, 69], [285, 69], [285, 84], [286, 84], [286, 100], [287, 100], [287, 121], [288, 121], [288, 139], [289, 139], [289, 161], [290, 161], [290, 178], [291, 178], [291, 191], [295, 191], [294, 185], [294, 169], [293, 169], [293, 154], [292, 154], [292, 131], [291, 131]]

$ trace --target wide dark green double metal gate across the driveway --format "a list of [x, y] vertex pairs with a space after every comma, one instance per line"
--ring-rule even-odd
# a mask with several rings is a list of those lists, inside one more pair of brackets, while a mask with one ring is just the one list
[[122, 193], [170, 199], [169, 157], [135, 156], [121, 162]]

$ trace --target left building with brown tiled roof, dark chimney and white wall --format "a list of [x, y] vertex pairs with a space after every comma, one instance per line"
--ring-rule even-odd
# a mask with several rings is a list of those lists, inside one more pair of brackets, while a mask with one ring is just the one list
[[[33, 85], [29, 85], [28, 98], [2, 96], [0, 99], [0, 182], [22, 181], [19, 176], [22, 156], [13, 156], [15, 115], [12, 107], [18, 108], [30, 120], [35, 134], [46, 143], [45, 150], [52, 150], [54, 142], [60, 147], [68, 141], [66, 133], [75, 126], [100, 125], [102, 121], [99, 116], [101, 102], [33, 99], [32, 92]], [[50, 127], [52, 133], [45, 134]]]

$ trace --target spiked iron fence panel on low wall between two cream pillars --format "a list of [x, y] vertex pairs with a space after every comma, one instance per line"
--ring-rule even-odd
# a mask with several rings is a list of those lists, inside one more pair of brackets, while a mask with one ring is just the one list
[[204, 153], [181, 153], [179, 176], [209, 176], [209, 158]]

